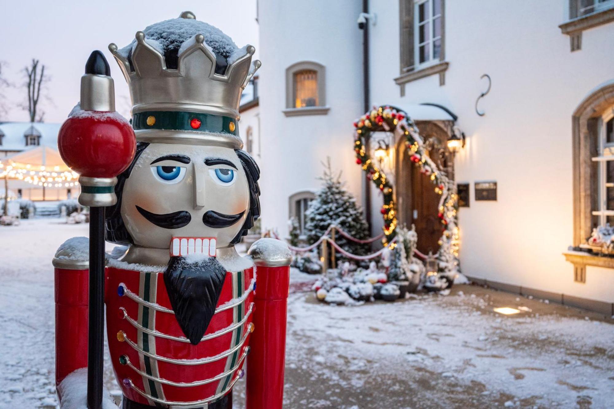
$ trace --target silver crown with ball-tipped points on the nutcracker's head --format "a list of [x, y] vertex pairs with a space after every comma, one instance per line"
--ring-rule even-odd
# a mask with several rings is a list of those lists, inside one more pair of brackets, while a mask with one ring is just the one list
[[[260, 67], [258, 60], [252, 64], [255, 48], [251, 45], [236, 49], [227, 58], [218, 56], [216, 62], [216, 54], [203, 34], [182, 43], [176, 69], [167, 68], [167, 53], [160, 42], [147, 39], [142, 31], [128, 47], [118, 50], [111, 43], [109, 50], [130, 87], [133, 115], [180, 110], [239, 119], [241, 92]], [[225, 69], [224, 62], [228, 64]]]

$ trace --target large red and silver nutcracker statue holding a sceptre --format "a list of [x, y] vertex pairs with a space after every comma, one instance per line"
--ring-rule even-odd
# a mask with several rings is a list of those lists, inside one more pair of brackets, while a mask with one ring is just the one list
[[[230, 409], [244, 375], [247, 408], [281, 408], [290, 253], [273, 239], [235, 250], [260, 214], [260, 170], [238, 129], [254, 47], [184, 12], [109, 50], [130, 123], [94, 51], [58, 137], [90, 206], [89, 240], [53, 259], [60, 407], [115, 407], [106, 326], [124, 409]], [[107, 254], [106, 241], [120, 247]]]

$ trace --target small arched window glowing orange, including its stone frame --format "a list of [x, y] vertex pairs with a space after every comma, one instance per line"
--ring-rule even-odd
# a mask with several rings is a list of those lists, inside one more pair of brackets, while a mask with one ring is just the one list
[[286, 69], [286, 116], [325, 114], [325, 70], [322, 64], [301, 61]]

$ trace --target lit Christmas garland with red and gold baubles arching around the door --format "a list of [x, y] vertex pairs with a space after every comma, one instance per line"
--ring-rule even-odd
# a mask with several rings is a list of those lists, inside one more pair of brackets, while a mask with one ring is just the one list
[[[416, 163], [420, 167], [421, 173], [429, 176], [430, 181], [435, 185], [435, 192], [441, 195], [438, 217], [443, 224], [438, 258], [440, 263], [443, 262], [447, 265], [446, 270], [456, 269], [459, 249], [456, 185], [430, 159], [426, 149], [424, 149], [424, 140], [422, 140], [414, 122], [402, 110], [385, 105], [373, 107], [373, 110], [365, 113], [354, 122], [354, 128], [356, 128], [354, 133], [356, 163], [362, 166], [362, 169], [367, 173], [367, 178], [373, 180], [373, 183], [379, 187], [384, 196], [384, 204], [381, 208], [384, 217], [384, 238], [382, 239], [384, 246], [387, 246], [395, 236], [398, 223], [397, 211], [395, 210], [392, 182], [371, 159], [365, 143], [372, 132], [392, 132], [395, 140], [399, 136], [404, 138], [410, 160]], [[440, 266], [440, 270], [441, 267], [443, 266]]]

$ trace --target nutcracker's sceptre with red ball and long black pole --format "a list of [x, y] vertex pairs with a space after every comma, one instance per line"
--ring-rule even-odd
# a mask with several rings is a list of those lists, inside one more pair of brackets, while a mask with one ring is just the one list
[[58, 135], [64, 162], [79, 173], [79, 203], [90, 206], [87, 407], [99, 409], [103, 392], [104, 348], [104, 208], [117, 202], [115, 184], [134, 157], [136, 138], [130, 124], [115, 113], [109, 63], [93, 51], [81, 77], [76, 107]]

